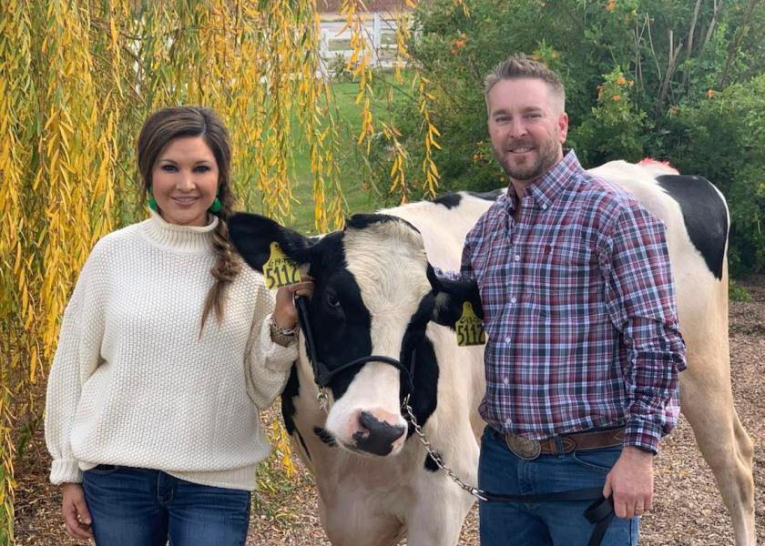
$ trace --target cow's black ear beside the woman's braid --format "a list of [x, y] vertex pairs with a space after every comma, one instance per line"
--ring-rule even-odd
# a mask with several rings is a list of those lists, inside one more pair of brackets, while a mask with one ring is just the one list
[[269, 217], [238, 212], [229, 218], [229, 238], [250, 268], [263, 270], [270, 257], [270, 244], [279, 243], [281, 250], [298, 265], [311, 261], [311, 238], [289, 227], [280, 226]]

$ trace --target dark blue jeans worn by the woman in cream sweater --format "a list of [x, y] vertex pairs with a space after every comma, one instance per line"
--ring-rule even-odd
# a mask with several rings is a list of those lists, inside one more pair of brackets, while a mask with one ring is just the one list
[[250, 491], [179, 480], [159, 470], [99, 465], [83, 489], [97, 546], [241, 546]]

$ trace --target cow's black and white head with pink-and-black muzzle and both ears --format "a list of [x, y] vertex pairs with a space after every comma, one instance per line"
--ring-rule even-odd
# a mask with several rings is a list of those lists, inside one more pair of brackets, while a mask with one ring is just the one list
[[[466, 300], [480, 312], [474, 283], [437, 278], [420, 233], [397, 217], [355, 215], [342, 232], [307, 238], [267, 217], [241, 213], [230, 219], [230, 233], [252, 268], [262, 270], [271, 242], [307, 266], [315, 279], [311, 329], [319, 359], [329, 369], [369, 355], [407, 365], [413, 348], [429, 344], [428, 322], [454, 327]], [[335, 375], [326, 432], [349, 450], [398, 453], [408, 430], [401, 374], [372, 360]]]

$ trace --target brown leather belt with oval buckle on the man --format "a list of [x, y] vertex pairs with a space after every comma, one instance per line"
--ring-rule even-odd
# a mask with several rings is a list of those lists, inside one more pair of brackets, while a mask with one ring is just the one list
[[[529, 440], [517, 434], [500, 432], [492, 429], [495, 435], [507, 443], [507, 447], [517, 457], [525, 460], [534, 460], [540, 455], [560, 455], [573, 451], [599, 450], [620, 446], [624, 440], [624, 427], [607, 430], [588, 430], [585, 432], [573, 432], [561, 434], [545, 440]], [[558, 442], [560, 447], [558, 449]]]

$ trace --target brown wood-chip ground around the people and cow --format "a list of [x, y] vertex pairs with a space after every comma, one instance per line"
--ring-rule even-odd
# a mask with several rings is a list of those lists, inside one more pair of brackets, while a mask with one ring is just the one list
[[[757, 534], [759, 542], [765, 544], [765, 277], [742, 286], [749, 290], [751, 301], [730, 304], [731, 376], [739, 417], [755, 444]], [[271, 412], [267, 420], [274, 419], [273, 415]], [[35, 546], [83, 544], [68, 538], [63, 529], [60, 494], [47, 481], [48, 467], [38, 430], [25, 457], [16, 464], [16, 542]], [[248, 546], [329, 544], [321, 530], [310, 477], [301, 473], [291, 480], [274, 480], [273, 473], [268, 474], [267, 487], [254, 503]], [[474, 509], [465, 521], [460, 544], [477, 543]], [[688, 422], [682, 418], [678, 428], [663, 440], [657, 457], [656, 501], [653, 511], [643, 518], [640, 543], [733, 544], [730, 519], [714, 478], [701, 459]]]

